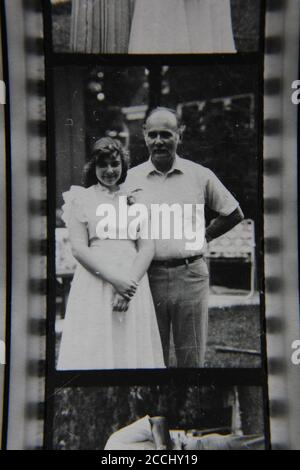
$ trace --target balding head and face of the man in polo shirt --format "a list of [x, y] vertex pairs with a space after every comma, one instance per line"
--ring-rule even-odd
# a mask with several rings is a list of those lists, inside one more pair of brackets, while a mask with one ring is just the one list
[[180, 133], [176, 117], [169, 111], [157, 111], [146, 122], [145, 142], [153, 165], [167, 172], [173, 164]]

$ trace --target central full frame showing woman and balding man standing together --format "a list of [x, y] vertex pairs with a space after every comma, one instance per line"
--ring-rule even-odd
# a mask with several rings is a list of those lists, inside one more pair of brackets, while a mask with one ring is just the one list
[[58, 371], [261, 367], [259, 72], [54, 68]]

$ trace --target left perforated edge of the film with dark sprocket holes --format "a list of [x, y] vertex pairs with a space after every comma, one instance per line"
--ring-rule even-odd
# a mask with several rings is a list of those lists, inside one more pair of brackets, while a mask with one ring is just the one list
[[42, 3], [5, 2], [5, 15], [13, 246], [6, 446], [38, 449], [43, 445], [47, 286]]

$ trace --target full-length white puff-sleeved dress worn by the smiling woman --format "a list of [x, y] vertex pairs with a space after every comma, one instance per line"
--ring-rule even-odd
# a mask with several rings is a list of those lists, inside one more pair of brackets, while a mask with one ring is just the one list
[[[99, 204], [118, 207], [122, 192], [109, 194], [100, 185], [72, 186], [64, 193], [63, 218], [85, 224], [90, 249], [104, 265], [130, 266], [137, 251], [131, 239], [99, 239]], [[117, 227], [118, 228], [118, 227]], [[138, 234], [137, 234], [138, 236]], [[153, 300], [145, 275], [127, 312], [114, 312], [114, 288], [78, 263], [68, 298], [58, 370], [163, 368], [163, 353]]]

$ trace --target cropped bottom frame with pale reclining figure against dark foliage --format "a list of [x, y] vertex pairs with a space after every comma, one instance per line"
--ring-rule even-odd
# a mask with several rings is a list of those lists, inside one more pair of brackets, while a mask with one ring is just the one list
[[260, 387], [66, 387], [54, 406], [55, 450], [267, 447]]

